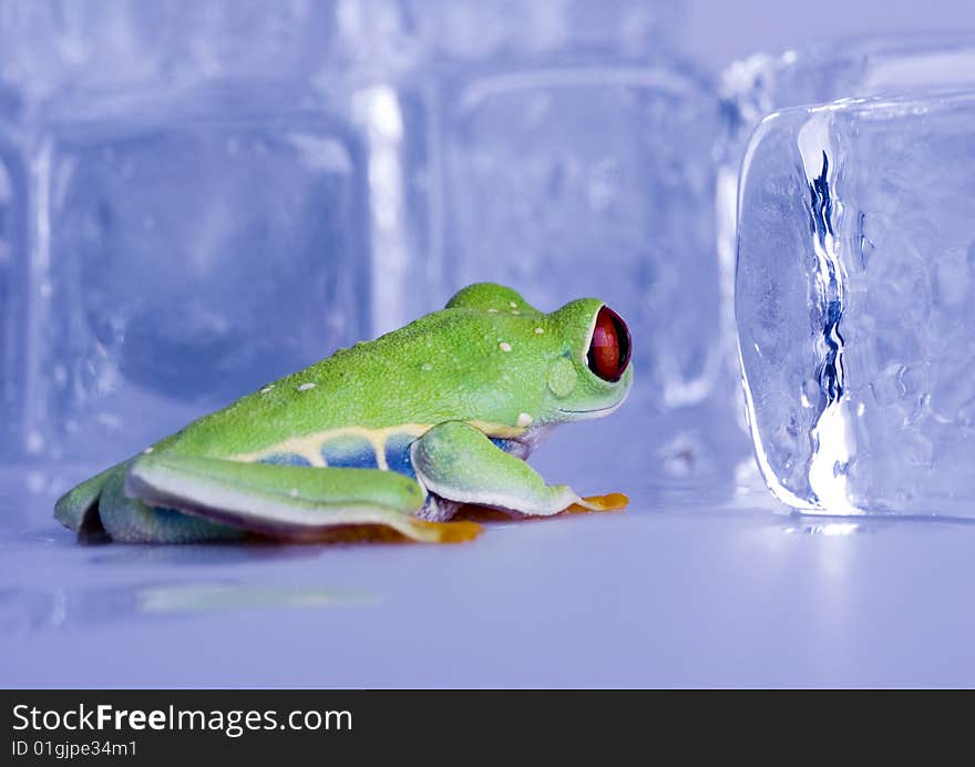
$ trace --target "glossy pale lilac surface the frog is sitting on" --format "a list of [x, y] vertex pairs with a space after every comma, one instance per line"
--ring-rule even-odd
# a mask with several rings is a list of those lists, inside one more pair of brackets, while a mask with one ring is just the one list
[[622, 429], [567, 428], [535, 464], [628, 510], [444, 548], [83, 546], [45, 483], [84, 469], [8, 473], [0, 684], [975, 684], [975, 525], [804, 520], [746, 478], [655, 484], [616, 468]]

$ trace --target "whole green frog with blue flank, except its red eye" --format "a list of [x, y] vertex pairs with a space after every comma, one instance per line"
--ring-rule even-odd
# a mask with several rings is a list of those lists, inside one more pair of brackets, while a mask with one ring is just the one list
[[462, 504], [528, 515], [620, 508], [622, 495], [547, 485], [523, 460], [553, 427], [626, 398], [626, 360], [614, 380], [591, 369], [603, 308], [583, 298], [543, 314], [511, 288], [471, 285], [444, 309], [82, 482], [54, 514], [82, 535], [130, 542], [328, 540], [363, 529], [443, 542], [480, 531], [448, 521]]

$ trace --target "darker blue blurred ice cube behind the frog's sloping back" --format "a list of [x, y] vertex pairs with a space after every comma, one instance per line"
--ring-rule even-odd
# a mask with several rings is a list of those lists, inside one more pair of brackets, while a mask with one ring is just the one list
[[285, 85], [43, 117], [28, 452], [121, 459], [369, 333], [366, 161]]

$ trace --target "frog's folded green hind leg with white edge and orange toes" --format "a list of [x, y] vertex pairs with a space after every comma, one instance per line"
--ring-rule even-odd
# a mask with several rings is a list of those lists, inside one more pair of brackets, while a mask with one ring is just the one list
[[132, 463], [125, 492], [137, 502], [279, 540], [327, 540], [337, 530], [362, 525], [435, 543], [464, 541], [481, 532], [473, 522], [417, 519], [425, 500], [423, 489], [409, 477], [378, 469], [157, 453]]

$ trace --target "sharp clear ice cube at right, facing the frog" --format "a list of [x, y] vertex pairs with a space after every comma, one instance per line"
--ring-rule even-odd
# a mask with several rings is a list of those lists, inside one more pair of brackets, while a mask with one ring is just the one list
[[975, 480], [975, 94], [764, 120], [736, 313], [766, 481], [834, 514], [967, 515]]

